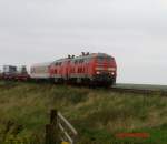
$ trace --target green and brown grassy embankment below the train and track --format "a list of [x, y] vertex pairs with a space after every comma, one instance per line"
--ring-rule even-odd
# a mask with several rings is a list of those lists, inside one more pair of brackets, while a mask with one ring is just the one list
[[150, 134], [148, 140], [125, 141], [167, 143], [167, 97], [106, 89], [0, 82], [1, 135], [43, 135], [51, 109], [59, 110], [71, 122], [82, 144], [91, 141], [107, 144], [115, 140], [115, 134], [124, 132]]

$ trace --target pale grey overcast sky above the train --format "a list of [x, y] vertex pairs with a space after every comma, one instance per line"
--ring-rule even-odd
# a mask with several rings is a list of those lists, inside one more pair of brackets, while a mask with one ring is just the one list
[[166, 0], [0, 0], [0, 65], [81, 51], [114, 55], [118, 82], [167, 84]]

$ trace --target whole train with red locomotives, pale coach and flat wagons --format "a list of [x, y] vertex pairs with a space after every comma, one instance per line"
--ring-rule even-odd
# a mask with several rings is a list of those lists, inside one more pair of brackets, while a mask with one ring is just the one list
[[106, 53], [82, 52], [78, 56], [68, 55], [52, 62], [33, 64], [29, 73], [26, 66], [18, 72], [14, 66], [6, 65], [0, 78], [111, 86], [117, 79], [117, 63], [114, 56]]

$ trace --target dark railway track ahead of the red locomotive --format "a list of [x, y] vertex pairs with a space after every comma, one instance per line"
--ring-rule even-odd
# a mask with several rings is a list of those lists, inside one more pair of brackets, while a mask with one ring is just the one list
[[131, 88], [111, 88], [111, 91], [119, 93], [134, 93], [134, 94], [143, 94], [143, 95], [160, 95], [167, 96], [167, 90], [150, 90], [150, 89], [131, 89]]

